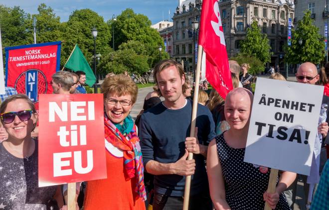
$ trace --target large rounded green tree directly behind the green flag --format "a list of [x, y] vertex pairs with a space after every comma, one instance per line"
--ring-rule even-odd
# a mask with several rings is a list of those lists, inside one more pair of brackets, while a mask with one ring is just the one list
[[87, 61], [92, 64], [94, 38], [91, 30], [93, 27], [98, 31], [96, 37], [96, 54], [100, 53], [102, 56], [105, 56], [112, 51], [110, 48], [111, 30], [108, 24], [104, 22], [104, 18], [91, 9], [75, 10], [70, 15], [68, 21], [63, 23], [61, 27], [63, 30], [62, 65], [68, 59], [75, 44], [79, 44]]

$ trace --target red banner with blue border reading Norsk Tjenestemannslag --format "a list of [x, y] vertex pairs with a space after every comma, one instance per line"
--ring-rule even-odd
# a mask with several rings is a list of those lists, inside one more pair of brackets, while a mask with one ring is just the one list
[[59, 71], [61, 42], [5, 48], [6, 86], [26, 94], [38, 109], [40, 94], [52, 93], [51, 76]]

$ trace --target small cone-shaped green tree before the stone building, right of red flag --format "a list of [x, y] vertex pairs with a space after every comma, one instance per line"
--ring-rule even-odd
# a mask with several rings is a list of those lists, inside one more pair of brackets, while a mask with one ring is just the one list
[[241, 43], [240, 52], [258, 58], [265, 65], [271, 61], [271, 47], [267, 35], [261, 33], [257, 24], [257, 21], [253, 21], [247, 29], [247, 36]]

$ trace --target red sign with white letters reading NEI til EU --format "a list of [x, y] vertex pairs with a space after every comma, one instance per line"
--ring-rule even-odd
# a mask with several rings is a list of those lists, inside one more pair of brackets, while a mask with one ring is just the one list
[[105, 179], [102, 94], [40, 95], [39, 187]]

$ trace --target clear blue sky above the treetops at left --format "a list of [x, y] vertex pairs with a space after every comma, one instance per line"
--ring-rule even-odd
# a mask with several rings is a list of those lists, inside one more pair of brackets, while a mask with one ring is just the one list
[[[178, 0], [0, 0], [0, 4], [12, 7], [20, 6], [25, 12], [35, 14], [40, 3], [50, 6], [61, 21], [67, 21], [72, 11], [90, 8], [104, 17], [107, 21], [112, 15], [118, 15], [126, 8], [134, 9], [149, 17], [152, 24], [170, 18], [177, 7]], [[171, 20], [172, 21], [172, 20]]]

